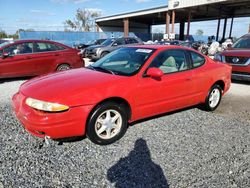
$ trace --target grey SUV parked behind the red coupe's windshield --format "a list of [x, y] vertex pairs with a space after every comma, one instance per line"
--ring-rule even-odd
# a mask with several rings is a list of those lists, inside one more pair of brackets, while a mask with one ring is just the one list
[[86, 48], [85, 57], [92, 60], [98, 60], [117, 48], [131, 44], [143, 44], [143, 42], [141, 39], [135, 37], [109, 38], [101, 45], [94, 45]]

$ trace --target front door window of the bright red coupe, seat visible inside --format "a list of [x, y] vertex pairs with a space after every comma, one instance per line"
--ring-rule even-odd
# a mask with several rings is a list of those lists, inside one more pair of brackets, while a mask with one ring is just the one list
[[157, 67], [163, 73], [181, 72], [188, 69], [185, 51], [166, 50], [157, 55], [150, 67]]

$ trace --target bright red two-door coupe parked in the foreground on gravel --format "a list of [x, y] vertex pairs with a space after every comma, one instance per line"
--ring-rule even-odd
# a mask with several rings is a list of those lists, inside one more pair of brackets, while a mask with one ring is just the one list
[[34, 78], [13, 96], [25, 129], [51, 139], [87, 135], [110, 144], [128, 123], [204, 104], [215, 110], [231, 66], [180, 46], [120, 48], [92, 66]]

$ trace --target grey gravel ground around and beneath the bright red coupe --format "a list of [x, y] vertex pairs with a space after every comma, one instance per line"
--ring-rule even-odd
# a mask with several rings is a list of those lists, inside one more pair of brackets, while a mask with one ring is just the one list
[[0, 84], [0, 188], [250, 187], [250, 85], [233, 84], [214, 113], [190, 108], [140, 122], [109, 146], [47, 146], [12, 113], [22, 82]]

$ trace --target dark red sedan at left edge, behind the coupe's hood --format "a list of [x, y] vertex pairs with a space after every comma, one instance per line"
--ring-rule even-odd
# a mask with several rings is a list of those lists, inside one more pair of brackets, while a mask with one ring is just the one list
[[46, 40], [0, 44], [0, 78], [36, 76], [84, 66], [78, 50]]

